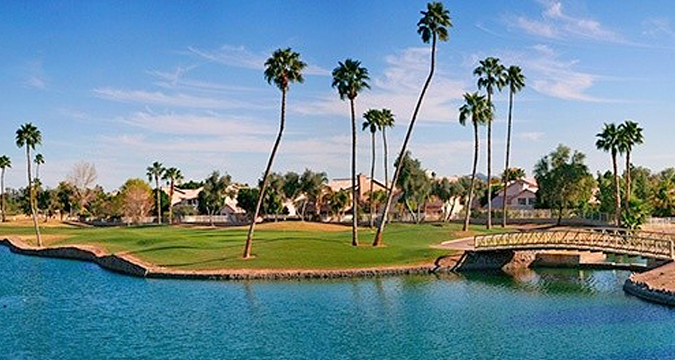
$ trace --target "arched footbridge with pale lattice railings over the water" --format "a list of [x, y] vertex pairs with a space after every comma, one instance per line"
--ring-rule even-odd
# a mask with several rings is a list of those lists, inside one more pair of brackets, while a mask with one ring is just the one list
[[473, 238], [475, 251], [571, 249], [661, 260], [675, 259], [673, 237], [626, 229], [556, 229], [508, 232]]

